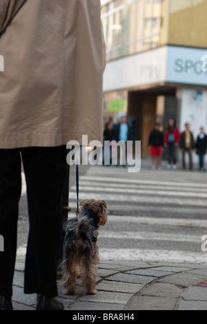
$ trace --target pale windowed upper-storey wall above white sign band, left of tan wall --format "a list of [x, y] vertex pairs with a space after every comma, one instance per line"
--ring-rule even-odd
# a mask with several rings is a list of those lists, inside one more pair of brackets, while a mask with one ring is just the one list
[[102, 6], [108, 61], [159, 46], [162, 3], [163, 0], [112, 0]]

